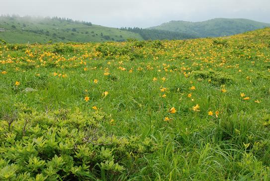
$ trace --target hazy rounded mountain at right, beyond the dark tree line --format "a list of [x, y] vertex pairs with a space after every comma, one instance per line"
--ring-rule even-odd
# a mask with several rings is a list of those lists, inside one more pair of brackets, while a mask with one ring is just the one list
[[198, 37], [227, 36], [270, 27], [269, 23], [250, 19], [214, 18], [201, 22], [170, 21], [148, 29], [170, 30]]

